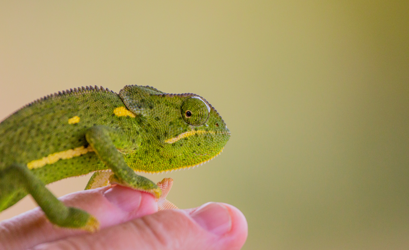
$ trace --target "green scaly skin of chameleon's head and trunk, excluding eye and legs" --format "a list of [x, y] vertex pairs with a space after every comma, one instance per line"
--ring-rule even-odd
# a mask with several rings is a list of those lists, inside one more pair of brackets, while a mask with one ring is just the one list
[[[134, 170], [157, 172], [207, 161], [220, 152], [230, 132], [211, 105], [204, 124], [187, 123], [181, 107], [192, 96], [197, 95], [164, 94], [132, 85], [119, 95], [102, 87], [87, 87], [42, 98], [0, 123], [0, 170], [12, 163], [27, 164], [56, 152], [87, 147], [85, 131], [95, 125], [119, 129], [129, 137], [130, 146], [119, 151]], [[116, 116], [117, 107], [127, 107], [135, 117]], [[69, 124], [74, 116], [80, 121]], [[165, 142], [192, 130], [198, 132], [174, 143]], [[47, 184], [103, 169], [107, 167], [97, 155], [88, 152], [31, 171]]]

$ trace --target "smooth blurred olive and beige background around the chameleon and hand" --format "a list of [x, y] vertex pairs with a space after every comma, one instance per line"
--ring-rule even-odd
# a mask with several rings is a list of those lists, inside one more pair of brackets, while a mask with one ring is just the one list
[[77, 86], [197, 93], [231, 139], [198, 169], [151, 175], [175, 180], [169, 200], [238, 207], [246, 250], [407, 249], [408, 13], [407, 1], [2, 0], [0, 118]]

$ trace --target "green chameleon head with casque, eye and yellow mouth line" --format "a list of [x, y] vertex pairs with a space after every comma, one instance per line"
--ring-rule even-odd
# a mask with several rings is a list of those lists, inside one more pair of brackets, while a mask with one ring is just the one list
[[202, 164], [220, 154], [229, 140], [224, 120], [198, 95], [133, 85], [119, 95], [143, 131], [142, 150], [132, 156], [135, 170], [159, 173]]

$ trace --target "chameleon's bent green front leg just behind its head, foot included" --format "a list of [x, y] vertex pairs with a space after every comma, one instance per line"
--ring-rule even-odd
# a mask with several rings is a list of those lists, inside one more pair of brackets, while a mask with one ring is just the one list
[[111, 184], [115, 183], [148, 192], [153, 194], [155, 198], [160, 198], [162, 192], [160, 188], [151, 180], [137, 175], [126, 164], [124, 157], [118, 151], [118, 149], [126, 148], [131, 144], [129, 138], [123, 132], [99, 125], [88, 129], [85, 138], [105, 166], [114, 173], [109, 178]]

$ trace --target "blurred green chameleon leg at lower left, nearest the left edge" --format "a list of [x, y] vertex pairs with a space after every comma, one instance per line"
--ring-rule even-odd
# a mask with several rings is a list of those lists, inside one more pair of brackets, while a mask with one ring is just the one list
[[7, 208], [15, 195], [22, 190], [31, 194], [47, 218], [55, 225], [90, 232], [99, 228], [97, 219], [81, 209], [66, 207], [23, 164], [11, 164], [0, 171], [0, 211]]

